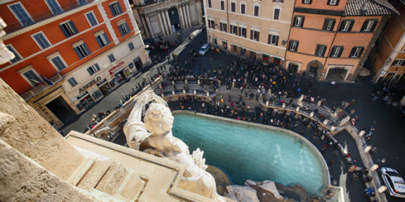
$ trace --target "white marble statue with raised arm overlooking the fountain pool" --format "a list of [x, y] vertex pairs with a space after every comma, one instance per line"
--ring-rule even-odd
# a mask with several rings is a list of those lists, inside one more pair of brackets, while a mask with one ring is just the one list
[[[196, 149], [190, 154], [188, 146], [172, 135], [173, 121], [174, 117], [165, 100], [155, 95], [153, 90], [144, 91], [136, 97], [134, 109], [123, 129], [129, 147], [185, 164], [180, 188], [215, 201], [224, 201], [216, 192], [214, 177], [205, 171], [207, 165], [203, 152]], [[143, 147], [146, 144], [146, 148], [141, 148], [141, 144]]]

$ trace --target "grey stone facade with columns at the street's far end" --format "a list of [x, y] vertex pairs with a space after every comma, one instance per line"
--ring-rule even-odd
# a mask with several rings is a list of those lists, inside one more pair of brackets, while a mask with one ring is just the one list
[[144, 39], [158, 39], [203, 23], [199, 0], [134, 0], [131, 6]]

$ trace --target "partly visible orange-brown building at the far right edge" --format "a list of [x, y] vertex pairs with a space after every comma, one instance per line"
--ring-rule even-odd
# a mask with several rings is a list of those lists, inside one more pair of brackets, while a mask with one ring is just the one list
[[397, 3], [401, 15], [390, 18], [369, 58], [375, 83], [405, 83], [405, 5]]

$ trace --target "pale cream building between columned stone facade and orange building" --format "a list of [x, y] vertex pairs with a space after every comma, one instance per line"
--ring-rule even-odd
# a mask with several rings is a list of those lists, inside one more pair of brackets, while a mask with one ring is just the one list
[[204, 0], [204, 8], [212, 46], [283, 66], [294, 1]]

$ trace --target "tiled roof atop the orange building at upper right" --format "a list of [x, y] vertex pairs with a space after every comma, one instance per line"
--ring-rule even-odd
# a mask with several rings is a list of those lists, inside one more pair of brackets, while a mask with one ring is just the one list
[[387, 0], [348, 0], [345, 15], [399, 15]]

